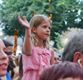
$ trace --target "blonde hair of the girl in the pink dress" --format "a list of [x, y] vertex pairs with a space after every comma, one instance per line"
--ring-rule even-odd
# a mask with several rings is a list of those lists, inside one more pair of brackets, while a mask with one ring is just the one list
[[[46, 15], [34, 15], [30, 20], [30, 27], [37, 28], [43, 21], [46, 20], [48, 20], [51, 23], [50, 19]], [[37, 45], [38, 40], [36, 39], [35, 35], [36, 34], [32, 32], [32, 42], [34, 45]], [[45, 47], [49, 48], [49, 39], [47, 41], [44, 41], [43, 43]]]

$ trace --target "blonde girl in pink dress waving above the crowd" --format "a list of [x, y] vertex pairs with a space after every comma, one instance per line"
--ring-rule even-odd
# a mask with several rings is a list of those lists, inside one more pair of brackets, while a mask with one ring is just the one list
[[54, 54], [48, 49], [51, 22], [45, 15], [35, 15], [29, 22], [18, 16], [19, 22], [26, 28], [23, 45], [22, 80], [39, 80], [41, 71], [54, 63]]

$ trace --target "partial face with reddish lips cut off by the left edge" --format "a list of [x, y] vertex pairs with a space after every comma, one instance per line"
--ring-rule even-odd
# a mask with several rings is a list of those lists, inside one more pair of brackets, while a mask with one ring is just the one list
[[4, 76], [7, 73], [8, 57], [3, 51], [4, 44], [0, 41], [0, 76]]

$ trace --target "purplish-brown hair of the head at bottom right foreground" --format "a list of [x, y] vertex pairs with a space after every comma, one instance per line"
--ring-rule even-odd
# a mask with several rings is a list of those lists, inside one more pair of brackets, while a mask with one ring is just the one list
[[40, 75], [40, 80], [59, 80], [68, 77], [83, 80], [83, 68], [77, 63], [61, 62], [45, 69]]

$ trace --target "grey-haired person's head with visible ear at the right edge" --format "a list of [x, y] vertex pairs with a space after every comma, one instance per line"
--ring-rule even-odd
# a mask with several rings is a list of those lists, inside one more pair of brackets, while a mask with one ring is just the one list
[[79, 31], [68, 42], [62, 55], [62, 61], [71, 61], [83, 67], [83, 32]]

